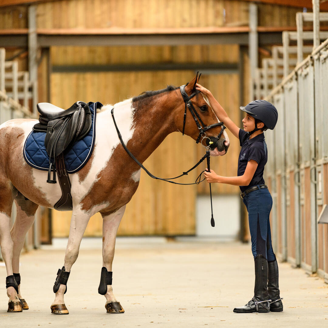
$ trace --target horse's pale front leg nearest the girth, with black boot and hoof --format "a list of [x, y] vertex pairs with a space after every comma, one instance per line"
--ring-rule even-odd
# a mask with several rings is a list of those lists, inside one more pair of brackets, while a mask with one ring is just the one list
[[50, 307], [52, 314], [69, 314], [64, 302], [64, 294], [67, 291], [66, 284], [72, 265], [75, 263], [77, 256], [79, 255], [81, 240], [85, 229], [87, 228], [89, 219], [90, 215], [82, 213], [76, 214], [73, 209], [64, 266], [61, 269], [58, 269], [56, 281], [53, 286], [55, 300]]

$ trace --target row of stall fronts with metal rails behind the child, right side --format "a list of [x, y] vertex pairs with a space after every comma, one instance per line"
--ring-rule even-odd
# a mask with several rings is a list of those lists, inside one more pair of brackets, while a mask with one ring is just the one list
[[[318, 28], [328, 14], [313, 3], [314, 13], [297, 13], [297, 32], [283, 32], [283, 47], [263, 60], [254, 87], [279, 113], [275, 130], [266, 132], [274, 248], [282, 260], [328, 282], [328, 230], [317, 224], [328, 199], [328, 34]], [[313, 21], [314, 31], [303, 32], [303, 21]], [[313, 46], [304, 47], [310, 38]], [[289, 45], [293, 39], [297, 46]]]

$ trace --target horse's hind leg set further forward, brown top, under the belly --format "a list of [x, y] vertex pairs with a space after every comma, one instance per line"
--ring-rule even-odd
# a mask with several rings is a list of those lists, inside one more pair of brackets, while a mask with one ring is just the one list
[[18, 285], [18, 298], [21, 302], [22, 309], [28, 310], [29, 306], [27, 305], [20, 292], [19, 256], [24, 245], [25, 236], [34, 222], [35, 212], [39, 205], [25, 198], [19, 192], [15, 198], [15, 203], [17, 214], [15, 223], [11, 228], [11, 239], [14, 243], [12, 254], [12, 270]]

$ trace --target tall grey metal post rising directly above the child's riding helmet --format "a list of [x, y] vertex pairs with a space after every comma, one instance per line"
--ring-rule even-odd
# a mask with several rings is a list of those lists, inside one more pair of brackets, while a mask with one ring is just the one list
[[254, 99], [254, 80], [255, 70], [258, 67], [258, 34], [257, 34], [257, 5], [250, 3], [249, 5], [249, 60], [250, 60], [250, 100]]

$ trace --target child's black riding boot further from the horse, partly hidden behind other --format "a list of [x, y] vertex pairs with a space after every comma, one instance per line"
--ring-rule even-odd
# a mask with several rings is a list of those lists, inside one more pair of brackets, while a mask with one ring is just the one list
[[269, 273], [268, 273], [268, 294], [271, 299], [270, 311], [272, 312], [282, 312], [282, 297], [280, 297], [279, 291], [279, 274], [278, 274], [278, 263], [275, 256], [273, 262], [268, 263]]

